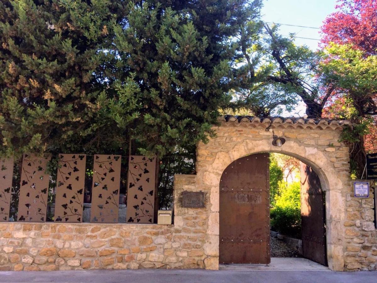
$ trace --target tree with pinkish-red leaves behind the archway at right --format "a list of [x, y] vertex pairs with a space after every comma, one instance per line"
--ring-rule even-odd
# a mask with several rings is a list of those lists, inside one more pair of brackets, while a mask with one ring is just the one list
[[[322, 26], [322, 44], [330, 42], [349, 44], [365, 52], [377, 55], [377, 0], [339, 0], [336, 12], [330, 14]], [[371, 94], [375, 103], [375, 95]], [[323, 109], [323, 117], [348, 118], [352, 115], [352, 103], [342, 94], [334, 95]], [[377, 117], [371, 117], [369, 134], [363, 138], [366, 152], [377, 152]]]

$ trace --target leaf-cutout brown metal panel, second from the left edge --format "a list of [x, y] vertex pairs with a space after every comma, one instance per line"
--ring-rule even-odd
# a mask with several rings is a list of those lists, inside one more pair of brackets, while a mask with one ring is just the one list
[[47, 158], [24, 154], [21, 169], [20, 199], [17, 219], [19, 222], [45, 222], [50, 175], [45, 174]]

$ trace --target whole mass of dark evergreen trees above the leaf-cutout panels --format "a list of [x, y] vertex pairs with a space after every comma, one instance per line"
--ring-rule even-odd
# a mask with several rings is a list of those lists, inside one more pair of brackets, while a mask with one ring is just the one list
[[[241, 80], [261, 1], [5, 0], [0, 155], [184, 152]], [[245, 37], [244, 37], [245, 38]]]

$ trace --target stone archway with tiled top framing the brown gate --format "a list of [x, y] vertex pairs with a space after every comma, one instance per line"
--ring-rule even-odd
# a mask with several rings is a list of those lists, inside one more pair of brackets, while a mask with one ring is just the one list
[[[276, 135], [287, 139], [281, 148], [272, 145], [272, 135], [265, 131], [269, 125]], [[341, 130], [338, 123], [332, 126], [316, 124], [314, 120], [309, 124], [280, 119], [222, 122], [216, 128], [217, 136], [207, 144], [200, 143], [197, 152], [197, 189], [206, 191], [210, 201], [205, 254], [218, 262], [219, 183], [224, 169], [249, 154], [278, 152], [303, 161], [319, 176], [326, 191], [328, 265], [332, 270], [343, 271], [345, 192], [350, 186], [348, 148], [337, 141]]]

